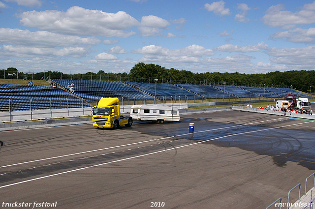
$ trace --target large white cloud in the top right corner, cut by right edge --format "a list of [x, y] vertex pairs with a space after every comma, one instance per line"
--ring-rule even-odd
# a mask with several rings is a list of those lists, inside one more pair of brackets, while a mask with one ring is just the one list
[[295, 13], [284, 11], [283, 4], [269, 7], [262, 17], [265, 25], [269, 27], [282, 27], [283, 29], [293, 28], [296, 25], [315, 23], [315, 1], [304, 4], [303, 8]]

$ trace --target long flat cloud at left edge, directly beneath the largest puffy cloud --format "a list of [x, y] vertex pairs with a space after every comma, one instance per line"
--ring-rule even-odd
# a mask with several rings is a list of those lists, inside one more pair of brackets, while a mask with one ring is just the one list
[[55, 48], [82, 44], [96, 45], [101, 43], [101, 40], [96, 37], [81, 38], [47, 31], [31, 32], [30, 30], [0, 28], [0, 43]]

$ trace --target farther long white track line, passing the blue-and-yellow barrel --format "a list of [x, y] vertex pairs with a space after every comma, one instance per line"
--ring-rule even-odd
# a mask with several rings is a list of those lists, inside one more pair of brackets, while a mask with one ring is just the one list
[[[266, 120], [266, 121], [274, 121], [274, 120], [280, 120], [280, 119], [283, 120], [282, 118], [277, 118], [277, 119], [271, 119], [271, 120]], [[248, 123], [248, 124], [235, 125], [235, 126], [229, 126], [229, 127], [222, 127], [222, 128], [218, 128], [218, 129], [210, 129], [210, 130], [205, 130], [205, 131], [197, 131], [196, 133], [201, 133], [201, 132], [206, 132], [206, 131], [216, 131], [216, 130], [221, 130], [221, 129], [241, 127], [241, 126], [247, 126], [247, 125], [252, 125], [252, 124], [255, 124], [255, 123], [263, 123], [263, 122], [266, 122], [266, 121], [257, 121], [257, 122], [252, 122], [252, 123]], [[51, 127], [44, 127], [44, 128], [51, 128]], [[16, 131], [19, 131], [19, 130], [16, 130]], [[74, 155], [86, 154], [86, 153], [91, 153], [91, 152], [108, 150], [108, 149], [112, 149], [112, 148], [125, 147], [125, 146], [130, 146], [130, 145], [135, 145], [135, 144], [141, 144], [141, 143], [147, 143], [147, 142], [152, 142], [152, 141], [157, 141], [157, 140], [163, 140], [163, 139], [169, 139], [169, 138], [174, 138], [174, 137], [179, 137], [179, 136], [185, 136], [185, 135], [189, 135], [189, 134], [191, 134], [191, 133], [184, 133], [184, 134], [180, 134], [180, 135], [168, 136], [168, 137], [152, 139], [152, 140], [148, 140], [148, 141], [141, 141], [141, 142], [135, 142], [135, 143], [131, 143], [131, 144], [124, 144], [124, 145], [114, 146], [114, 147], [106, 147], [106, 148], [102, 148], [102, 149], [90, 150], [90, 151], [85, 151], [85, 152], [80, 152], [80, 153], [73, 153], [73, 154], [69, 154], [69, 155], [48, 157], [48, 158], [43, 158], [43, 159], [36, 159], [36, 160], [32, 160], [32, 161], [27, 161], [27, 162], [20, 162], [20, 163], [16, 163], [16, 164], [4, 165], [4, 166], [0, 166], [0, 168], [5, 168], [5, 167], [10, 167], [10, 166], [15, 166], [15, 165], [22, 165], [22, 164], [26, 164], [26, 163], [38, 162], [38, 161], [43, 161], [43, 160], [48, 160], [48, 159], [55, 159], [55, 158], [60, 158], [60, 157], [69, 157], [69, 156], [74, 156]], [[137, 147], [137, 148], [139, 148], [139, 147]]]

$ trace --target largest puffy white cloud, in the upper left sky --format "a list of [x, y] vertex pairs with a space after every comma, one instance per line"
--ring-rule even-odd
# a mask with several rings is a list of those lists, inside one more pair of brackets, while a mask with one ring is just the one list
[[126, 12], [106, 13], [101, 10], [70, 7], [66, 12], [57, 10], [28, 11], [19, 15], [22, 26], [39, 28], [62, 34], [126, 38], [135, 32], [128, 31], [139, 22]]

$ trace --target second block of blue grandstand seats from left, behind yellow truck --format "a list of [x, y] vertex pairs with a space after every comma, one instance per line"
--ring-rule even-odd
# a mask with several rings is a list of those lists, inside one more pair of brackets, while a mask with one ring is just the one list
[[[74, 93], [84, 100], [91, 102], [99, 100], [101, 97], [117, 97], [122, 99], [153, 99], [148, 94], [136, 90], [120, 81], [104, 81], [104, 80], [67, 80], [52, 79], [60, 86], [67, 87], [68, 84], [74, 84]], [[96, 99], [97, 98], [97, 99]]]

